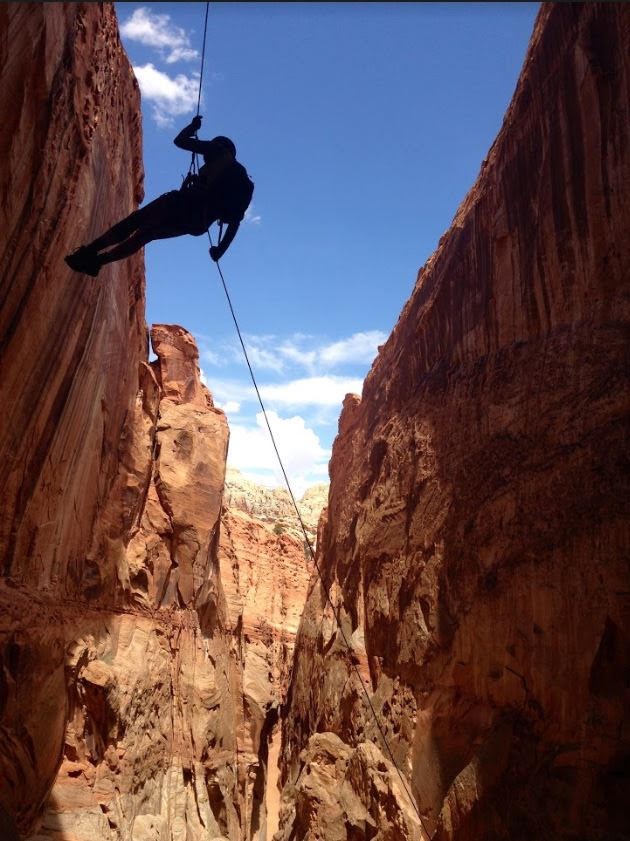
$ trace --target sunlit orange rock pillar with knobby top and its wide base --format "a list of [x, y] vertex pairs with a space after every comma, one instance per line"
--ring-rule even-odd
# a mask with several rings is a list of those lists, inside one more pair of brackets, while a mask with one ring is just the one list
[[131, 527], [102, 543], [128, 606], [66, 611], [63, 761], [33, 841], [241, 837], [239, 670], [216, 552], [227, 421], [191, 336], [156, 325], [151, 341], [117, 499], [140, 464], [147, 485]]

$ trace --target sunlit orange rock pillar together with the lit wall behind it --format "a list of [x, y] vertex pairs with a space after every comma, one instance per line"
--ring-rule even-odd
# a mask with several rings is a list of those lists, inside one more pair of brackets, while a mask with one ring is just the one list
[[303, 546], [222, 512], [225, 415], [200, 383], [190, 334], [155, 325], [151, 342], [118, 488], [121, 499], [135, 488], [146, 457], [136, 520], [116, 543], [126, 604], [64, 613], [62, 761], [31, 841], [239, 841], [277, 821]]

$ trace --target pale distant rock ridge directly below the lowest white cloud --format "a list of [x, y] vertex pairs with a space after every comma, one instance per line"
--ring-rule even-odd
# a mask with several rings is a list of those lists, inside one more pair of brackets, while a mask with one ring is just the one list
[[[306, 534], [315, 548], [317, 524], [328, 501], [328, 485], [312, 485], [304, 491], [296, 503], [306, 529]], [[285, 488], [265, 488], [247, 479], [234, 467], [228, 467], [225, 476], [225, 502], [232, 510], [243, 511], [259, 522], [266, 523], [279, 534], [290, 534], [305, 543], [291, 497]], [[310, 556], [308, 546], [305, 547]]]

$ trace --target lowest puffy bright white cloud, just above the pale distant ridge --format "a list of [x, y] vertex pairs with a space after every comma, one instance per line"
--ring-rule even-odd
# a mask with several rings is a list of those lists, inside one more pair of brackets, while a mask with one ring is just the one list
[[[291, 487], [299, 497], [307, 487], [327, 478], [330, 452], [321, 446], [317, 434], [299, 415], [282, 418], [268, 411], [267, 417]], [[230, 426], [228, 464], [256, 482], [283, 485], [284, 478], [262, 412], [256, 415], [256, 424], [255, 427]]]

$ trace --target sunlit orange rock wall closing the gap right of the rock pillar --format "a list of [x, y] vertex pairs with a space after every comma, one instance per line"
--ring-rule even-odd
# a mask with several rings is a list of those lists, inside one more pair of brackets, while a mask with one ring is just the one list
[[[260, 509], [266, 518], [272, 512]], [[265, 520], [239, 508], [224, 508], [219, 564], [225, 624], [240, 667], [236, 740], [248, 773], [245, 811], [250, 817], [243, 835], [248, 839], [270, 841], [277, 829], [279, 725], [312, 566], [303, 543], [290, 534], [275, 534]]]

